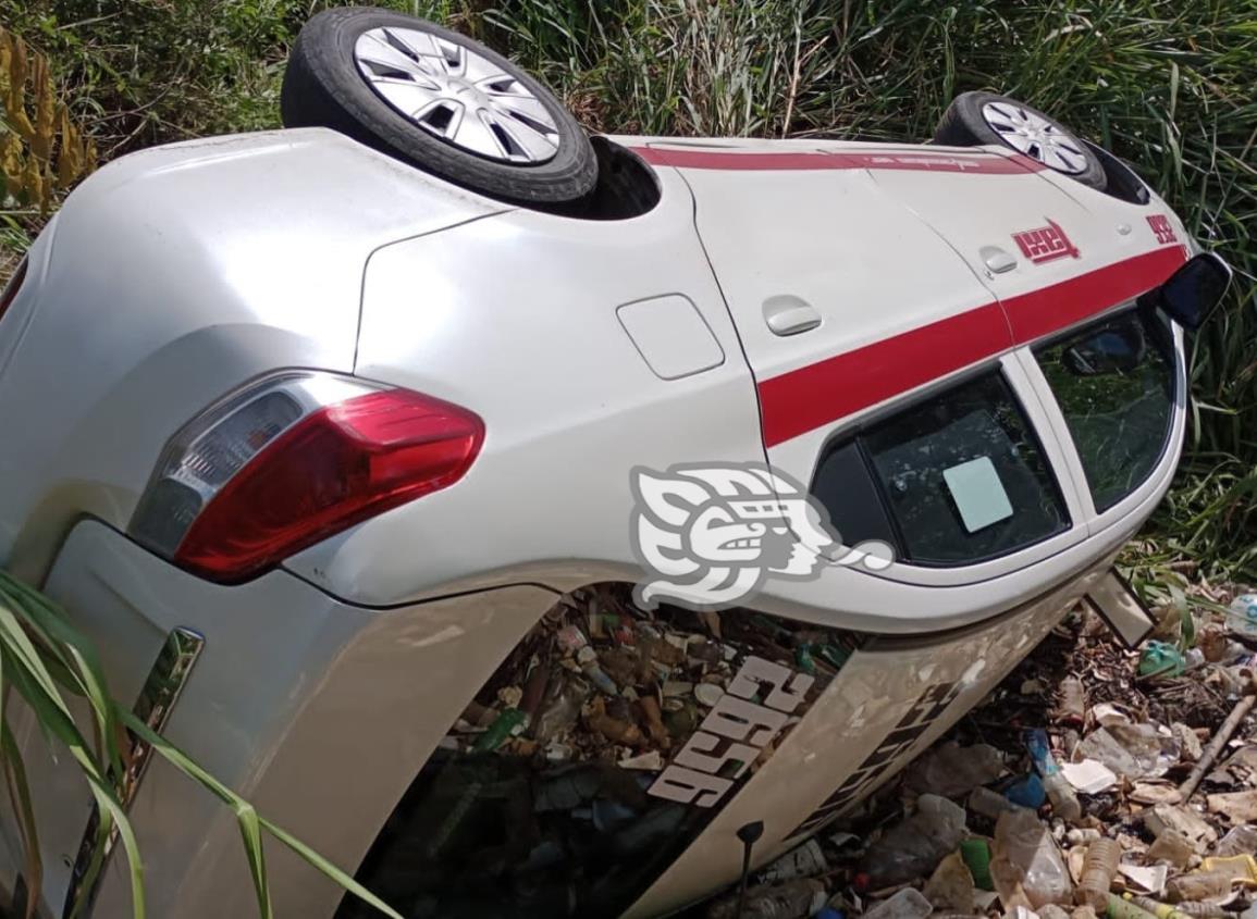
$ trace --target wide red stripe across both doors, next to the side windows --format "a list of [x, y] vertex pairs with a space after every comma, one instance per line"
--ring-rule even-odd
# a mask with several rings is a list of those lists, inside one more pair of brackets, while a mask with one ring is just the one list
[[1156, 286], [1185, 260], [1182, 246], [1154, 250], [766, 379], [764, 446], [1073, 325]]

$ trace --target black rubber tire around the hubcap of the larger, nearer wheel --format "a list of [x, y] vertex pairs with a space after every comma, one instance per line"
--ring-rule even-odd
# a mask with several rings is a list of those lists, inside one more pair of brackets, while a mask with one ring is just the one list
[[[426, 131], [376, 93], [358, 70], [354, 44], [370, 29], [419, 29], [502, 68], [544, 105], [558, 149], [542, 162], [505, 162]], [[527, 205], [566, 205], [597, 182], [588, 137], [554, 95], [520, 68], [465, 35], [388, 10], [347, 6], [312, 16], [293, 44], [280, 92], [289, 128], [326, 127], [483, 195]]]

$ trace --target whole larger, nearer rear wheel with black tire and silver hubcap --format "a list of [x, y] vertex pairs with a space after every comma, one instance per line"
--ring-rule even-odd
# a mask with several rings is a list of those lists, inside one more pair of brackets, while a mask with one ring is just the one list
[[280, 110], [287, 127], [333, 128], [508, 201], [568, 203], [597, 181], [590, 139], [546, 87], [480, 43], [400, 13], [310, 18]]

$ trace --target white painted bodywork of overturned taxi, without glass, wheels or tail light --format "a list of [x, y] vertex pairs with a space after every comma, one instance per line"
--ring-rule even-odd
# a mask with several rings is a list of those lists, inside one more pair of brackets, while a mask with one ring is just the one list
[[[1029, 348], [1129, 306], [1192, 244], [1155, 193], [1120, 201], [993, 147], [616, 139], [660, 185], [628, 220], [502, 205], [324, 129], [102, 168], [36, 241], [0, 321], [0, 564], [70, 611], [122, 699], [172, 630], [202, 637], [166, 734], [353, 870], [546, 610], [583, 585], [641, 579], [635, 467], [768, 462], [808, 482], [843, 431], [999, 369], [1068, 527], [974, 565], [771, 579], [754, 609], [867, 643], [701, 832], [616, 900], [647, 916], [735, 880], [748, 821], [764, 822], [762, 864], [838, 816], [1106, 571], [1174, 475], [1182, 330], [1164, 451], [1102, 511]], [[1072, 251], [1036, 264], [1014, 235], [1045, 225]], [[782, 321], [820, 324], [777, 334], [766, 301], [798, 310]], [[483, 448], [451, 487], [243, 584], [129, 539], [172, 434], [287, 368], [465, 406]], [[16, 732], [41, 821], [40, 910], [59, 916], [91, 796], [29, 719]], [[151, 915], [251, 913], [234, 817], [215, 800], [155, 761], [131, 815]], [[11, 890], [20, 839], [11, 819], [0, 829]], [[333, 884], [278, 846], [268, 859], [278, 915], [337, 911]], [[128, 910], [116, 854], [94, 915]]]

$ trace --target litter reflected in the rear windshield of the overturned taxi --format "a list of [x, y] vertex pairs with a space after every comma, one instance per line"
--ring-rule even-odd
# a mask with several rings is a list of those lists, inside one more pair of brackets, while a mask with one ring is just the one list
[[[748, 659], [806, 674], [798, 702], [810, 704], [854, 648], [832, 629], [757, 614], [649, 613], [623, 591], [587, 590], [547, 613], [442, 747], [659, 772], [667, 753], [718, 707]], [[754, 771], [757, 763], [748, 766]]]

